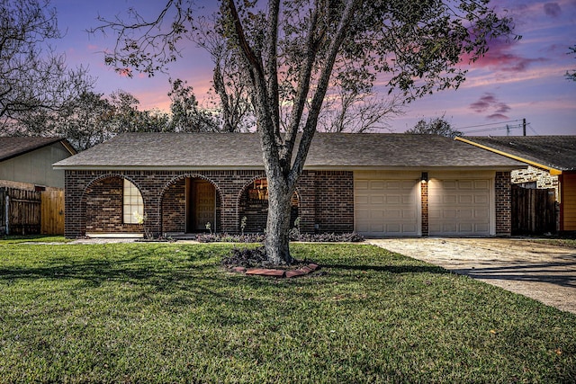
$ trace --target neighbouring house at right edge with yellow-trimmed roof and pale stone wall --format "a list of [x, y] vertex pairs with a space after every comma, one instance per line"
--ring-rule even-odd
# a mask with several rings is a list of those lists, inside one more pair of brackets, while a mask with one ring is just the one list
[[456, 139], [528, 165], [512, 171], [511, 182], [526, 188], [554, 188], [559, 203], [558, 229], [576, 231], [576, 136]]

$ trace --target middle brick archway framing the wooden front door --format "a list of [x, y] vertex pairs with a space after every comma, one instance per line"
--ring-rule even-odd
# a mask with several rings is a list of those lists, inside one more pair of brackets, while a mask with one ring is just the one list
[[162, 232], [166, 234], [220, 230], [220, 194], [211, 181], [197, 175], [168, 184], [162, 196]]

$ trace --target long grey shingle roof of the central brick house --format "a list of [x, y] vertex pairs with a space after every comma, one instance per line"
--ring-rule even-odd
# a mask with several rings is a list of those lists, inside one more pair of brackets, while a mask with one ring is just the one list
[[[262, 169], [253, 133], [127, 133], [54, 165], [64, 169]], [[316, 133], [308, 169], [374, 167], [523, 167], [505, 156], [451, 138], [381, 133]]]

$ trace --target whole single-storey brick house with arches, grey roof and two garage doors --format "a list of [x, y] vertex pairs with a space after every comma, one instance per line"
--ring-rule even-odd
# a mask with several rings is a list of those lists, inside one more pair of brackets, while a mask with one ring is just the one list
[[[256, 134], [132, 133], [54, 165], [66, 236], [238, 233], [266, 227]], [[524, 165], [450, 138], [317, 133], [293, 195], [304, 232], [367, 237], [510, 234], [510, 172]], [[145, 216], [142, 225], [139, 217]]]

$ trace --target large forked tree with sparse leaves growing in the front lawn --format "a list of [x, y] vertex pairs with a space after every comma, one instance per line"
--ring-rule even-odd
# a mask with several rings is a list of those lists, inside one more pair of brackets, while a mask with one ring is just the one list
[[[388, 73], [389, 89], [408, 100], [457, 87], [465, 75], [461, 59], [479, 58], [491, 37], [509, 35], [511, 20], [487, 0], [255, 3], [220, 1], [220, 33], [241, 60], [261, 142], [269, 192], [266, 254], [272, 263], [291, 263], [291, 198], [330, 79], [370, 89], [379, 73]], [[174, 28], [154, 40], [150, 25], [162, 25], [170, 10]], [[101, 28], [118, 31], [120, 38], [107, 62], [153, 74], [166, 64], [166, 55], [177, 56], [175, 44], [189, 32], [183, 21], [190, 22], [193, 12], [184, 0], [168, 1], [157, 21], [143, 23], [146, 40], [124, 39], [136, 31], [133, 24], [104, 23]], [[285, 103], [290, 105], [283, 129]]]

